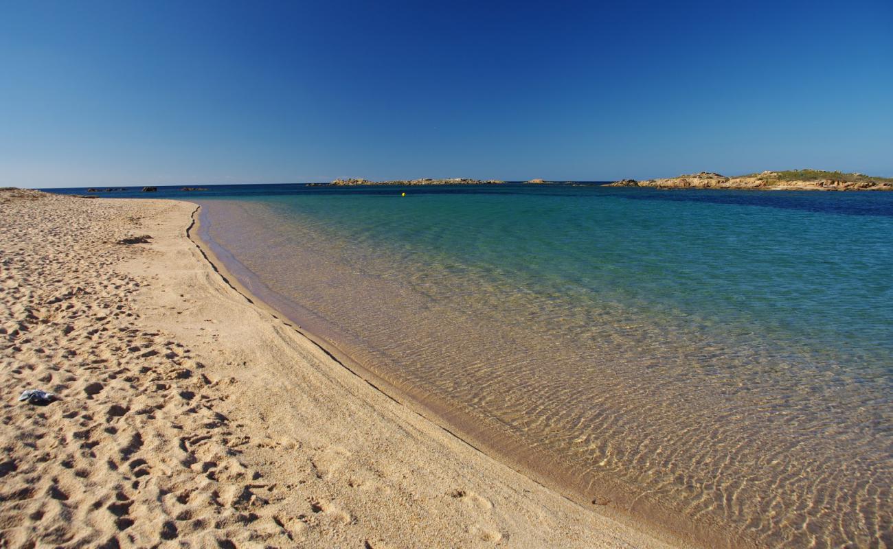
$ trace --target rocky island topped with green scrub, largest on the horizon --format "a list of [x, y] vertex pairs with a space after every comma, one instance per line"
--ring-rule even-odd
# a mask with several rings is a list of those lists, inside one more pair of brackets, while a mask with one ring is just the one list
[[764, 171], [729, 178], [711, 171], [702, 171], [692, 175], [681, 175], [678, 178], [642, 181], [623, 179], [605, 187], [891, 191], [893, 190], [893, 178], [876, 178], [861, 173], [822, 170]]

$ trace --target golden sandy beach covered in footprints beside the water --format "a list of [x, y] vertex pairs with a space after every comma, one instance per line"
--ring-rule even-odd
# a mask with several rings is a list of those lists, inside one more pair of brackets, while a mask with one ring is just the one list
[[0, 546], [667, 546], [250, 304], [186, 236], [195, 208], [0, 191]]

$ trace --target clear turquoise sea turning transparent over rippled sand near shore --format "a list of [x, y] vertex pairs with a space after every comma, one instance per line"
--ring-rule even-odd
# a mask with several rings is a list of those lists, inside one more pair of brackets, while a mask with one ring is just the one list
[[707, 545], [893, 544], [893, 194], [199, 202], [246, 285], [578, 501]]

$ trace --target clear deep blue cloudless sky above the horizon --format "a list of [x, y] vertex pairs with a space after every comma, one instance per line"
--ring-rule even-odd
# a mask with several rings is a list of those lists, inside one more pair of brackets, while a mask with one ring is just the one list
[[893, 1], [0, 0], [0, 186], [893, 176]]

